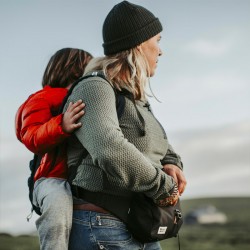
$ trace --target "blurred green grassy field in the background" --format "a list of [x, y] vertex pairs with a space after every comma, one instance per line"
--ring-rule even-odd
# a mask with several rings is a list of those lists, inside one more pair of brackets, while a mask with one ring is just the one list
[[[203, 204], [211, 204], [224, 212], [224, 225], [186, 225], [180, 231], [182, 250], [249, 250], [250, 198], [213, 198], [182, 201], [184, 216]], [[177, 238], [161, 242], [163, 250], [178, 250]], [[0, 234], [0, 250], [38, 250], [35, 236], [12, 237]], [[131, 249], [132, 250], [132, 249]]]

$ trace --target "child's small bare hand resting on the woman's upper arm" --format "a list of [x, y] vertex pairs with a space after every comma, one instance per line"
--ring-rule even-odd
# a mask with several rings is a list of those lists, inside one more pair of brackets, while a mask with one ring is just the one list
[[77, 121], [84, 115], [84, 107], [85, 104], [82, 100], [78, 100], [76, 103], [69, 103], [62, 119], [62, 129], [65, 133], [72, 133], [75, 129], [82, 126], [82, 123]]

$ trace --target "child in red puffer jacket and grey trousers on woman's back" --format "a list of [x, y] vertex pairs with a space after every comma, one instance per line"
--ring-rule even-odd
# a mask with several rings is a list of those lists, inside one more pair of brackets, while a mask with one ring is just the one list
[[16, 114], [16, 136], [42, 157], [35, 175], [33, 203], [42, 215], [36, 221], [41, 249], [67, 250], [72, 225], [72, 194], [67, 183], [65, 141], [81, 126], [84, 103], [70, 103], [57, 115], [71, 84], [79, 79], [92, 56], [80, 49], [57, 51], [45, 69], [43, 89], [32, 94]]

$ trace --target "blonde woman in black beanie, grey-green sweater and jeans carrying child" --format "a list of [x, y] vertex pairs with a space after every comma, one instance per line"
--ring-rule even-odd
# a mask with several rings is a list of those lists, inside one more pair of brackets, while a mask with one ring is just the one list
[[[91, 60], [85, 70], [108, 81], [89, 77], [69, 97], [68, 103], [83, 99], [87, 111], [84, 126], [68, 145], [68, 165], [78, 167], [69, 249], [160, 249], [158, 242], [134, 239], [118, 217], [133, 192], [168, 205], [177, 202], [186, 185], [180, 157], [145, 94], [162, 54], [161, 31], [147, 9], [127, 1], [114, 6], [103, 24], [105, 56]], [[120, 90], [125, 106], [118, 118]]]

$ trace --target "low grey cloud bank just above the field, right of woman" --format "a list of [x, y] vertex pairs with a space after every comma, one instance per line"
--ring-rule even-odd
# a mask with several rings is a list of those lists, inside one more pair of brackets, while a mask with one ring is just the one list
[[184, 196], [250, 196], [250, 121], [173, 134], [188, 180]]

